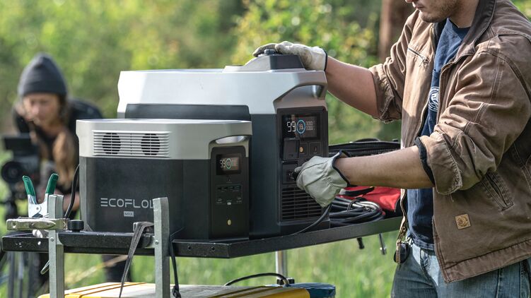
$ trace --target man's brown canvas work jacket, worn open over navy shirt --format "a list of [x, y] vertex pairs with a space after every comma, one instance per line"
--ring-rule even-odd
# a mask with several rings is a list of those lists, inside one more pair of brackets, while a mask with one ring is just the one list
[[[402, 119], [414, 145], [426, 113], [442, 24], [416, 12], [373, 73], [380, 120]], [[433, 238], [446, 282], [531, 257], [531, 25], [508, 0], [480, 0], [455, 59], [440, 73], [426, 150]]]

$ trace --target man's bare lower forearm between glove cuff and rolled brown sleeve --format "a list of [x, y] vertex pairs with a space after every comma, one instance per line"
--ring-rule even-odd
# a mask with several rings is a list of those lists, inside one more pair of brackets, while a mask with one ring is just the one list
[[433, 187], [422, 167], [419, 148], [416, 146], [380, 155], [339, 158], [335, 167], [354, 185], [398, 189]]

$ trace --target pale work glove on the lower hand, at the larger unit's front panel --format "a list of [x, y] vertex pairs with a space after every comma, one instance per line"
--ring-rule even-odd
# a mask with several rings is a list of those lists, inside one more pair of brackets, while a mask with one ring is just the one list
[[333, 157], [314, 156], [295, 169], [298, 174], [298, 188], [306, 191], [322, 208], [332, 203], [337, 193], [349, 184], [349, 181], [334, 166], [334, 162], [343, 157], [349, 157], [349, 155], [339, 151]]

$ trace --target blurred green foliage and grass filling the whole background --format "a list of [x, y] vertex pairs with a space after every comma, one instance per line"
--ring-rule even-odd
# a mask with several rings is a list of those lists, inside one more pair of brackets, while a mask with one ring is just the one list
[[[530, 0], [514, 2], [531, 16]], [[378, 62], [380, 5], [371, 0], [0, 0], [0, 124], [3, 131], [8, 129], [18, 77], [37, 52], [54, 56], [71, 96], [94, 102], [105, 117], [115, 117], [122, 70], [244, 64], [255, 47], [282, 40], [317, 45], [337, 59], [371, 66]], [[331, 95], [327, 103], [330, 143], [399, 138], [399, 122], [380, 124]], [[1, 162], [8, 158], [0, 152]], [[0, 184], [0, 197], [5, 195]], [[0, 225], [0, 231], [5, 227]], [[391, 250], [394, 237], [394, 232], [384, 235]], [[337, 297], [388, 296], [395, 268], [391, 257], [380, 256], [377, 237], [368, 237], [366, 247], [360, 251], [355, 241], [345, 241], [293, 249], [288, 269], [298, 282], [337, 285]], [[152, 261], [135, 258], [136, 281], [153, 282]], [[103, 282], [99, 263], [99, 256], [68, 255], [67, 287]], [[183, 283], [222, 284], [274, 271], [274, 254], [231, 260], [180, 258], [179, 263]], [[6, 297], [1, 285], [0, 297]]]

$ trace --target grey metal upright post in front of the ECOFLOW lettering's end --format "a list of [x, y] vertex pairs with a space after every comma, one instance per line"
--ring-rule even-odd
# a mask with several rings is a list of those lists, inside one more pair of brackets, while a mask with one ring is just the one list
[[170, 297], [170, 227], [168, 198], [153, 199], [155, 223], [155, 292], [157, 298]]

